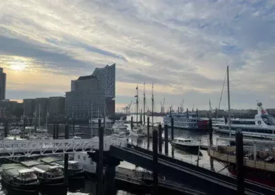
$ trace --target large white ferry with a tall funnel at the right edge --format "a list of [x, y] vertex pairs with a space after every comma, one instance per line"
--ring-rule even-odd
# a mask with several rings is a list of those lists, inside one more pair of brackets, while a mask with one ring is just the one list
[[219, 124], [214, 127], [214, 130], [229, 133], [230, 126], [232, 135], [235, 134], [236, 129], [241, 129], [243, 136], [275, 139], [275, 118], [269, 115], [262, 105], [261, 102], [257, 103], [258, 114], [254, 119], [231, 119], [231, 125]]

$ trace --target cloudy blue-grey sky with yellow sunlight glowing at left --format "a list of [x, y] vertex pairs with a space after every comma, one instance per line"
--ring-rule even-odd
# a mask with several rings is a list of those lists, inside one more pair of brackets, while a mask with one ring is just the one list
[[[6, 98], [65, 95], [70, 80], [116, 64], [116, 108], [140, 96], [184, 108], [275, 108], [275, 1], [0, 1]], [[227, 89], [221, 108], [227, 107]]]

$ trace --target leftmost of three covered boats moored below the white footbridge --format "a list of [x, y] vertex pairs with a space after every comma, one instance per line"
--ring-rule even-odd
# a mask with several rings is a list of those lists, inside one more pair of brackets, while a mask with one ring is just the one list
[[1, 181], [13, 190], [21, 192], [37, 192], [39, 180], [34, 170], [25, 168], [19, 163], [1, 165]]

